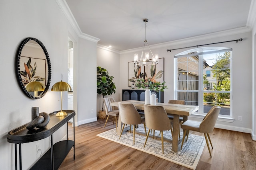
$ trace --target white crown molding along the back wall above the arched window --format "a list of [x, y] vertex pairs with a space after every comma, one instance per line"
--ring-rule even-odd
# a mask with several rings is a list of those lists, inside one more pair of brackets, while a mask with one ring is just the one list
[[[225, 31], [219, 31], [219, 32], [215, 32], [215, 33], [209, 33], [209, 34], [199, 35], [199, 36], [195, 36], [195, 37], [189, 37], [189, 38], [185, 38], [185, 39], [169, 41], [166, 43], [154, 44], [154, 45], [150, 45], [150, 49], [157, 49], [157, 48], [163, 48], [163, 47], [170, 48], [173, 45], [180, 45], [180, 44], [191, 43], [191, 42], [195, 42], [195, 41], [203, 41], [203, 40], [207, 40], [207, 39], [213, 39], [213, 38], [217, 38], [217, 37], [225, 37], [225, 36], [229, 36], [229, 35], [236, 35], [239, 33], [246, 33], [246, 32], [250, 32], [250, 31], [252, 31], [252, 29], [250, 27], [247, 27], [247, 26], [239, 27], [239, 28], [235, 28], [235, 29], [228, 29]], [[241, 38], [241, 37], [238, 37], [238, 38]], [[142, 48], [143, 47], [120, 51], [120, 54], [134, 53], [136, 51], [141, 51]]]

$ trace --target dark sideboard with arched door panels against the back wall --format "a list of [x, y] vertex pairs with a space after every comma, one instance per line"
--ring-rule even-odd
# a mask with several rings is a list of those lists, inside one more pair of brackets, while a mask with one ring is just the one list
[[[156, 92], [159, 103], [164, 103], [164, 92]], [[139, 100], [145, 101], [145, 90], [125, 89], [122, 92], [122, 101]]]

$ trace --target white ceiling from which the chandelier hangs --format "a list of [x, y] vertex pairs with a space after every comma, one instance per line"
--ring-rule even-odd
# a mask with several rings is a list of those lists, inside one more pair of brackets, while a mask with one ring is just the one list
[[118, 51], [248, 26], [251, 0], [66, 0], [82, 33]]

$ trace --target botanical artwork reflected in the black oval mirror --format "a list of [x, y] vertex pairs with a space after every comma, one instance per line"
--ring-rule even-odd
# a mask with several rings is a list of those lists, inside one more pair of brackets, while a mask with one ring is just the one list
[[32, 81], [46, 86], [46, 59], [20, 56], [20, 74], [24, 86]]

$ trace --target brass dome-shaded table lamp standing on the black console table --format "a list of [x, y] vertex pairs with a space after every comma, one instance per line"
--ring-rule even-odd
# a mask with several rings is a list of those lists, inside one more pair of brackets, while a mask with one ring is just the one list
[[62, 92], [71, 91], [71, 90], [72, 90], [71, 86], [66, 82], [62, 82], [62, 80], [60, 82], [56, 82], [52, 86], [51, 91], [60, 92], [60, 100], [61, 100], [61, 111], [56, 113], [55, 116], [66, 116], [66, 115], [68, 115], [68, 113], [66, 113], [65, 111], [62, 111]]

